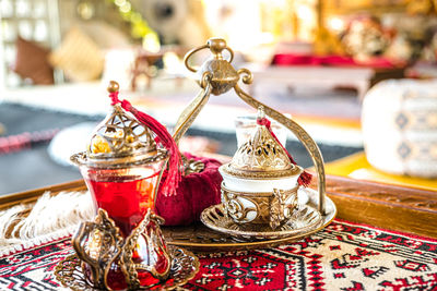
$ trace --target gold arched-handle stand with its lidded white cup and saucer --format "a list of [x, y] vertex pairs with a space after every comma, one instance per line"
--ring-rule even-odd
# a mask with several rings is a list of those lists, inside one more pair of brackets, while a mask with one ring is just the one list
[[[212, 57], [200, 68], [193, 68], [190, 64], [191, 56], [202, 49], [209, 49]], [[224, 53], [227, 51], [227, 53]], [[226, 59], [225, 54], [229, 57]], [[186, 54], [185, 64], [188, 70], [194, 73], [201, 87], [198, 96], [180, 114], [174, 133], [175, 141], [178, 141], [192, 124], [199, 112], [208, 102], [211, 94], [221, 95], [234, 89], [236, 95], [246, 104], [255, 109], [261, 109], [263, 114], [283, 124], [303, 143], [309, 153], [317, 174], [317, 199], [314, 201], [314, 211], [318, 215], [311, 217], [310, 222], [300, 225], [298, 231], [293, 231], [293, 221], [299, 220], [296, 214], [302, 214], [302, 207], [296, 204], [298, 185], [297, 178], [303, 172], [299, 166], [290, 163], [286, 154], [283, 153], [277, 143], [274, 142], [267, 131], [265, 126], [257, 125], [257, 132], [251, 140], [245, 143], [236, 153], [231, 163], [220, 168], [224, 178], [222, 184], [222, 205], [212, 206], [202, 213], [202, 222], [216, 231], [226, 234], [237, 235], [240, 231], [240, 238], [248, 240], [256, 238], [275, 239], [302, 237], [305, 233], [312, 233], [315, 230], [329, 225], [335, 216], [335, 205], [329, 201], [330, 207], [326, 207], [326, 177], [324, 166], [321, 153], [309, 136], [309, 134], [294, 120], [285, 117], [275, 109], [258, 101], [247, 94], [238, 85], [251, 84], [252, 74], [247, 69], [236, 70], [232, 65], [234, 58], [233, 50], [227, 47], [226, 41], [221, 38], [211, 38], [206, 45], [194, 48]], [[267, 183], [265, 183], [267, 182]], [[265, 189], [265, 184], [281, 184], [280, 187]], [[284, 185], [284, 183], [286, 183]], [[262, 190], [260, 190], [260, 187]], [[255, 191], [258, 189], [258, 191]], [[311, 207], [312, 206], [307, 206]], [[213, 211], [216, 211], [213, 214]], [[310, 211], [312, 213], [312, 211]], [[211, 218], [215, 219], [211, 219]], [[300, 219], [302, 220], [302, 219]], [[226, 222], [225, 222], [226, 221]], [[231, 222], [229, 222], [231, 221]], [[309, 221], [303, 219], [302, 221]], [[229, 223], [227, 223], [229, 222]], [[253, 226], [268, 226], [264, 231], [267, 235], [257, 235], [251, 231]], [[224, 227], [226, 226], [226, 227]], [[287, 226], [288, 233], [284, 235], [274, 235], [274, 232], [281, 232]], [[260, 234], [260, 233], [258, 233]]]

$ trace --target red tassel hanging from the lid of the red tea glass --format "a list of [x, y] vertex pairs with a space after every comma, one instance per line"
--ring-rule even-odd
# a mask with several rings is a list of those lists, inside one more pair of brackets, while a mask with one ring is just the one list
[[151, 129], [151, 131], [156, 134], [157, 138], [155, 141], [161, 143], [169, 151], [167, 175], [162, 185], [162, 191], [160, 192], [164, 193], [165, 196], [176, 194], [176, 189], [181, 180], [180, 169], [182, 160], [179, 148], [167, 129], [151, 116], [137, 110], [128, 100], [118, 99], [118, 92], [110, 93], [109, 97], [113, 101], [111, 105], [120, 104], [126, 111], [131, 112], [138, 121]]

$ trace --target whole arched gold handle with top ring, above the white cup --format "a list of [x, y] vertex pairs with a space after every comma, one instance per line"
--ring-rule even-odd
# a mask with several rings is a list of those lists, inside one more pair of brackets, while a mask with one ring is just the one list
[[[194, 52], [206, 48], [211, 50], [213, 58], [205, 61], [199, 69], [192, 68], [189, 64], [191, 56]], [[225, 50], [227, 50], [231, 54], [229, 60], [226, 60], [223, 56], [223, 51]], [[202, 110], [203, 106], [208, 102], [211, 94], [221, 95], [234, 88], [238, 97], [240, 97], [246, 104], [253, 107], [255, 109], [263, 107], [264, 112], [268, 117], [282, 123], [285, 128], [292, 131], [304, 144], [309, 155], [311, 156], [317, 172], [319, 193], [317, 207], [320, 214], [324, 215], [324, 167], [323, 158], [321, 156], [319, 147], [299, 124], [297, 124], [292, 119], [286, 118], [284, 114], [280, 113], [275, 109], [258, 101], [238, 86], [239, 80], [241, 80], [245, 84], [251, 84], [252, 74], [247, 69], [239, 69], [238, 71], [235, 70], [235, 68], [231, 64], [233, 59], [233, 50], [227, 47], [226, 41], [221, 38], [211, 38], [210, 40], [208, 40], [206, 45], [194, 48], [187, 53], [187, 56], [185, 57], [185, 64], [188, 70], [197, 74], [201, 92], [193, 100], [191, 100], [190, 105], [180, 114], [176, 123], [175, 133], [173, 135], [175, 141], [178, 142], [180, 137], [186, 133], [194, 119], [198, 117], [199, 112]]]

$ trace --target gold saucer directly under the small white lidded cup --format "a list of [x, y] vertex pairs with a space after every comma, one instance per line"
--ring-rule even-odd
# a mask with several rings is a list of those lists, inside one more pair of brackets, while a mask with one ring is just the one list
[[319, 211], [309, 205], [298, 205], [292, 217], [277, 229], [272, 230], [269, 225], [236, 223], [225, 215], [223, 204], [204, 209], [200, 220], [206, 227], [245, 241], [276, 240], [293, 237], [317, 229], [322, 218]]

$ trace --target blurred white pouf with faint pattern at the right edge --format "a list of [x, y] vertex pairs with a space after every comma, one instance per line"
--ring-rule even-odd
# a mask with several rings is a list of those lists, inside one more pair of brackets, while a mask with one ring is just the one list
[[385, 172], [437, 177], [437, 82], [386, 81], [365, 96], [363, 138], [369, 163]]

